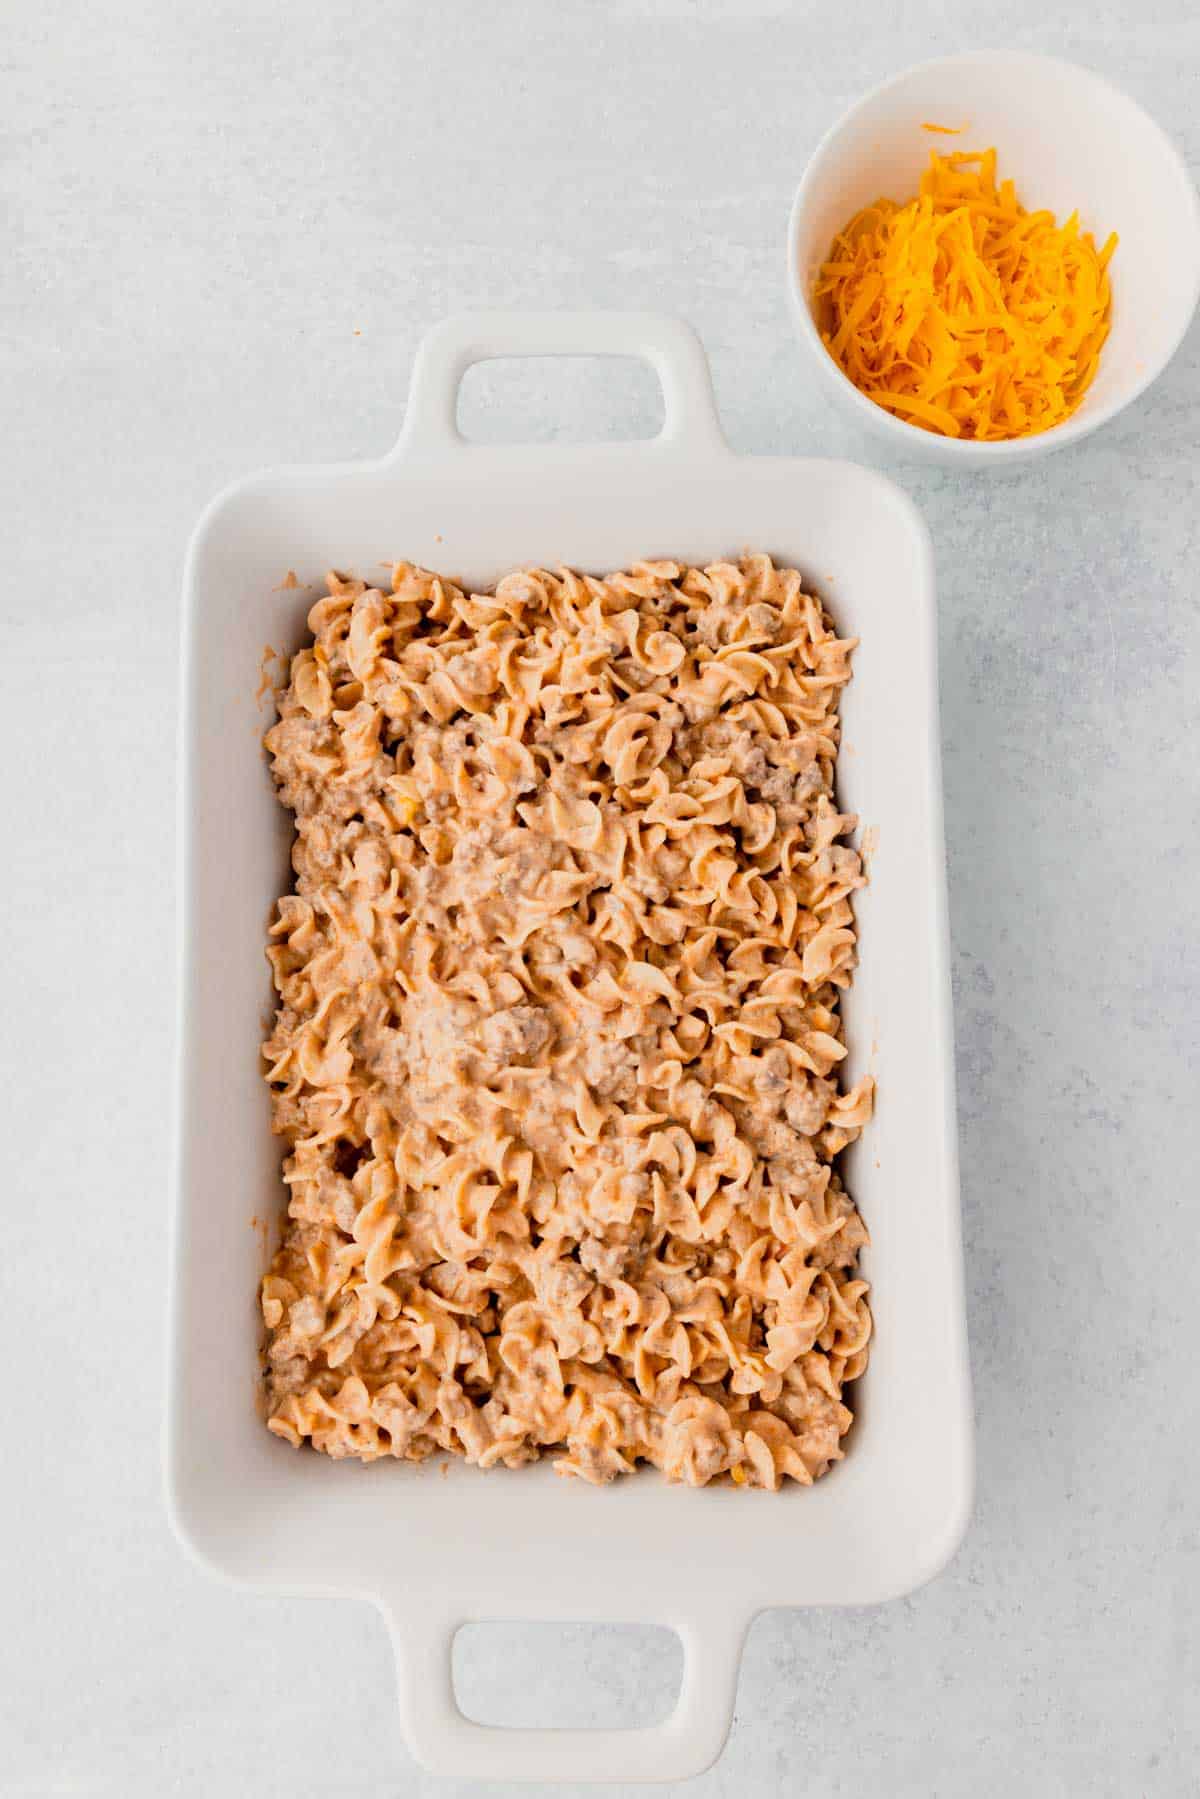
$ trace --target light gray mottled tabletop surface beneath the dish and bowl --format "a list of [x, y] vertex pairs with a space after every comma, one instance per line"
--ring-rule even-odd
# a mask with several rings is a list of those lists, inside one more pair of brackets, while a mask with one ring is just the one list
[[[979, 45], [1114, 76], [1196, 169], [1189, 0], [2, 7], [5, 1795], [455, 1790], [369, 1608], [227, 1592], [164, 1518], [196, 513], [383, 452], [461, 306], [684, 313], [738, 448], [873, 459], [793, 347], [792, 189], [856, 94]], [[941, 583], [979, 1504], [912, 1599], [759, 1619], [696, 1794], [1200, 1792], [1198, 401], [1193, 329], [1027, 475], [896, 470]], [[655, 396], [536, 365], [466, 416], [624, 435]], [[639, 1630], [461, 1648], [489, 1718], [646, 1720], [676, 1675]]]

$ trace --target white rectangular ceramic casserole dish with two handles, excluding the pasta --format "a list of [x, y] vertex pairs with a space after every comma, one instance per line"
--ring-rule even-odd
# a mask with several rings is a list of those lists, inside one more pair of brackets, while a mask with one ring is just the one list
[[[662, 381], [658, 437], [585, 448], [466, 444], [471, 362], [628, 354]], [[489, 583], [509, 567], [693, 563], [768, 550], [858, 633], [840, 799], [878, 844], [860, 896], [846, 1015], [851, 1078], [878, 1112], [846, 1160], [873, 1245], [876, 1340], [853, 1389], [846, 1461], [777, 1495], [606, 1490], [554, 1475], [369, 1468], [297, 1454], [255, 1409], [263, 1231], [282, 1211], [259, 1038], [263, 955], [288, 885], [290, 820], [259, 747], [263, 646], [300, 642], [284, 570], [372, 577], [407, 558]], [[381, 570], [378, 570], [381, 574]], [[264, 1590], [347, 1594], [387, 1616], [403, 1723], [437, 1774], [680, 1779], [720, 1752], [747, 1626], [768, 1605], [869, 1605], [936, 1574], [972, 1502], [934, 574], [927, 531], [883, 477], [846, 462], [732, 455], [687, 326], [655, 315], [470, 315], [435, 329], [405, 428], [380, 462], [290, 468], [223, 493], [185, 574], [180, 777], [182, 1011], [167, 1495], [184, 1545]], [[671, 1718], [637, 1731], [497, 1731], [468, 1722], [450, 1644], [468, 1619], [671, 1624], [685, 1650]], [[333, 1678], [333, 1673], [331, 1673]]]

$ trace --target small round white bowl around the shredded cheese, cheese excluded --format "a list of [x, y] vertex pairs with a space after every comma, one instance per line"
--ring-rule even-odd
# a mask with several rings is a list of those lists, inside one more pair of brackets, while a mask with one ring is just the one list
[[[966, 126], [936, 137], [921, 124]], [[837, 230], [880, 194], [918, 191], [930, 148], [997, 148], [1000, 178], [1031, 210], [1079, 210], [1112, 259], [1112, 333], [1078, 412], [1036, 437], [963, 443], [876, 407], [833, 362], [813, 320], [813, 277]], [[813, 151], [788, 230], [788, 286], [801, 344], [826, 392], [892, 452], [954, 468], [1002, 468], [1087, 437], [1162, 372], [1200, 295], [1200, 205], [1182, 158], [1128, 95], [1074, 63], [986, 50], [921, 63], [874, 88]]]

